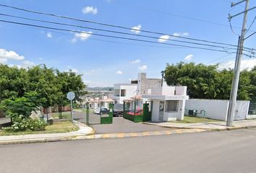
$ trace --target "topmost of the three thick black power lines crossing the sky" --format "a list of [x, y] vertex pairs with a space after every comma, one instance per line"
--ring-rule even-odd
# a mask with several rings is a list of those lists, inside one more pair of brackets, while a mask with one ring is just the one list
[[[9, 5], [5, 5], [5, 4], [0, 4], [0, 6], [4, 6], [4, 7], [7, 7], [7, 8], [11, 8], [11, 9], [17, 9], [17, 10], [21, 10], [21, 11], [24, 11], [24, 12], [31, 12], [31, 13], [35, 13], [35, 14], [43, 14], [43, 15], [47, 15], [47, 16], [51, 16], [51, 17], [59, 17], [59, 18], [62, 18], [62, 19], [70, 19], [70, 20], [75, 20], [75, 21], [79, 21], [79, 22], [88, 22], [88, 23], [93, 23], [93, 24], [96, 24], [96, 25], [103, 25], [103, 26], [107, 26], [107, 27], [116, 27], [116, 28], [121, 28], [121, 29], [124, 29], [124, 30], [131, 30], [131, 28], [129, 28], [129, 27], [123, 27], [123, 26], [119, 26], [119, 25], [110, 25], [110, 24], [101, 23], [101, 22], [93, 22], [93, 21], [89, 21], [89, 20], [85, 20], [85, 19], [77, 19], [77, 18], [74, 18], [74, 17], [61, 16], [61, 15], [58, 15], [58, 14], [50, 14], [50, 13], [45, 13], [45, 12], [36, 12], [36, 11], [33, 11], [33, 10], [29, 10], [29, 9], [18, 8], [16, 6], [9, 6]], [[187, 40], [195, 40], [195, 41], [200, 41], [200, 42], [205, 42], [205, 43], [229, 45], [229, 46], [236, 47], [236, 45], [231, 45], [231, 44], [228, 44], [228, 43], [219, 43], [219, 42], [201, 40], [201, 39], [196, 39], [196, 38], [191, 38], [191, 37], [182, 37], [182, 36], [178, 36], [178, 35], [169, 35], [169, 34], [166, 34], [166, 33], [163, 33], [163, 32], [153, 32], [153, 31], [149, 31], [149, 30], [140, 30], [140, 32], [147, 32], [147, 33], [150, 33], [150, 34], [157, 34], [157, 35], [168, 35], [168, 36], [171, 36], [171, 37], [179, 37], [179, 38], [183, 38], [183, 39], [187, 39]], [[249, 48], [247, 48], [247, 49], [249, 49]]]

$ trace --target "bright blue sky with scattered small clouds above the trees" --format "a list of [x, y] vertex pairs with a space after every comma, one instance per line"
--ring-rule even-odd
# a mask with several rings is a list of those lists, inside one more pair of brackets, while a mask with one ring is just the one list
[[[231, 8], [231, 2], [226, 0], [0, 0], [0, 4], [119, 25], [130, 30], [48, 17], [0, 6], [0, 12], [3, 14], [157, 37], [150, 39], [156, 43], [141, 43], [93, 34], [145, 38], [0, 15], [2, 20], [80, 31], [56, 32], [56, 30], [0, 22], [0, 63], [20, 68], [46, 64], [49, 68], [58, 68], [61, 71], [72, 70], [82, 74], [85, 84], [92, 87], [129, 83], [131, 79], [137, 79], [137, 74], [140, 72], [147, 73], [148, 78], [161, 78], [161, 71], [166, 68], [167, 63], [175, 64], [180, 61], [206, 65], [219, 63], [219, 68], [232, 68], [235, 58], [235, 54], [230, 54], [232, 50], [223, 53], [158, 43], [181, 44], [174, 42], [180, 38], [168, 37], [168, 35], [177, 35], [236, 45], [237, 34], [241, 33], [242, 15], [231, 19], [232, 32], [228, 14], [236, 14], [244, 10], [244, 4]], [[256, 6], [256, 1], [250, 1], [249, 6]], [[252, 23], [255, 14], [256, 9], [249, 12], [247, 27]], [[147, 34], [141, 30], [161, 32], [166, 35]], [[256, 21], [247, 32], [247, 36], [254, 31], [256, 31]], [[256, 35], [245, 40], [244, 46], [256, 48]], [[255, 65], [256, 58], [242, 59], [242, 69], [252, 68]]]

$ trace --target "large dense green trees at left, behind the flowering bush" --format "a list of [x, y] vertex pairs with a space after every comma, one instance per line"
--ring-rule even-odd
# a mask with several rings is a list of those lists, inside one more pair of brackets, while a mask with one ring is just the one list
[[36, 92], [38, 99], [44, 101], [34, 103], [47, 108], [69, 104], [66, 96], [70, 91], [76, 94], [75, 100], [80, 100], [85, 93], [84, 89], [85, 84], [82, 82], [81, 75], [72, 71], [61, 72], [54, 68], [47, 68], [46, 65], [17, 68], [0, 64], [0, 102], [12, 107], [17, 114], [27, 114], [27, 111], [22, 112], [20, 108], [14, 109], [14, 105], [26, 106], [26, 102], [30, 102], [26, 95], [28, 93]]

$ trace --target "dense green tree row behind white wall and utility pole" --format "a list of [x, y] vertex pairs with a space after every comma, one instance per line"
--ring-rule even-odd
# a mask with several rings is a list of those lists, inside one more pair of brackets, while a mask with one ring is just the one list
[[[256, 68], [256, 67], [255, 67]], [[244, 70], [240, 74], [238, 99], [250, 99], [255, 96], [255, 68]], [[202, 63], [167, 64], [165, 80], [168, 85], [187, 86], [190, 98], [229, 99], [234, 76], [232, 69], [218, 70], [218, 64], [205, 66]]]

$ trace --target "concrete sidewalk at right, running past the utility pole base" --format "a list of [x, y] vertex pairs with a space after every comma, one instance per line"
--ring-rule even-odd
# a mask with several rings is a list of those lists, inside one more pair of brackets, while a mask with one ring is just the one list
[[145, 123], [150, 125], [158, 125], [165, 128], [185, 128], [185, 129], [205, 129], [205, 130], [232, 130], [238, 128], [255, 128], [256, 120], [234, 121], [233, 127], [226, 126], [226, 122], [206, 122], [206, 123]]

